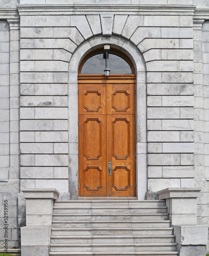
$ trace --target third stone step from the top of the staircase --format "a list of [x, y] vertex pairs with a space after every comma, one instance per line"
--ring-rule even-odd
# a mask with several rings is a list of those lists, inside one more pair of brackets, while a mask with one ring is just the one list
[[168, 220], [168, 214], [53, 214], [54, 221], [96, 221], [96, 220], [106, 220], [106, 221], [119, 221], [119, 220]]

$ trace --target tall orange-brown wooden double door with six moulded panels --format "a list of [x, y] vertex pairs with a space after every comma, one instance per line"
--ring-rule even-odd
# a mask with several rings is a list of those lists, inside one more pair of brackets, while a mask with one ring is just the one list
[[80, 75], [79, 196], [136, 195], [135, 76]]

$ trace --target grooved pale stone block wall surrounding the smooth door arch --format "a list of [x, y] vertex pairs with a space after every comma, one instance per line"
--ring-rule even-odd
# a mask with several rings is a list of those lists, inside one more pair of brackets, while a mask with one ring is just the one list
[[71, 54], [100, 33], [130, 40], [146, 62], [148, 190], [187, 186], [195, 177], [192, 15], [49, 13], [20, 12], [21, 188], [68, 191], [67, 97], [59, 90], [67, 86]]

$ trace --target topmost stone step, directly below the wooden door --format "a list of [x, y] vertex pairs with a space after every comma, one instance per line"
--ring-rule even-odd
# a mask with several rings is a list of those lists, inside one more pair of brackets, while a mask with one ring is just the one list
[[137, 201], [137, 200], [77, 200], [77, 201], [55, 201], [55, 207], [79, 207], [79, 208], [86, 208], [86, 207], [109, 207], [112, 208], [114, 206], [117, 207], [156, 207], [156, 206], [166, 206], [165, 200], [144, 200], [144, 201]]

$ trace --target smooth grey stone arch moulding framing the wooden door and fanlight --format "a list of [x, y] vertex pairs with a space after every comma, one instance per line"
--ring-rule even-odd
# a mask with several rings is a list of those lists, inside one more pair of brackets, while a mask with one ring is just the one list
[[103, 45], [120, 50], [133, 62], [136, 71], [136, 181], [138, 200], [144, 200], [147, 191], [147, 129], [146, 129], [146, 68], [139, 49], [120, 36], [95, 36], [76, 49], [68, 69], [68, 140], [69, 192], [71, 200], [78, 196], [78, 99], [77, 71], [87, 54]]

